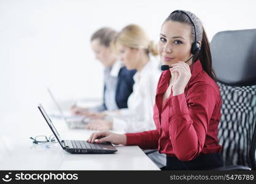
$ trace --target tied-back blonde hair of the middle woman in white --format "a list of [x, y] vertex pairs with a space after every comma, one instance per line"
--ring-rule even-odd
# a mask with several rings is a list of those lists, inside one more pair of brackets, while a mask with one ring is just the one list
[[158, 55], [157, 47], [145, 31], [138, 25], [128, 25], [120, 31], [115, 42], [130, 48], [144, 49], [147, 54]]

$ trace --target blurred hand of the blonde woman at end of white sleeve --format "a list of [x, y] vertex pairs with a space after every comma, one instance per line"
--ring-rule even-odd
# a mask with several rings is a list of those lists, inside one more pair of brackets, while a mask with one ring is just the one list
[[86, 129], [109, 130], [113, 128], [111, 120], [93, 120], [85, 126]]

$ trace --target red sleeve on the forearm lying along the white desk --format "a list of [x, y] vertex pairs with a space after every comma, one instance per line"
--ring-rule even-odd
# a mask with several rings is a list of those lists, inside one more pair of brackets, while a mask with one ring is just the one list
[[144, 131], [138, 133], [127, 133], [126, 145], [138, 145], [142, 149], [157, 149], [160, 137], [157, 130]]

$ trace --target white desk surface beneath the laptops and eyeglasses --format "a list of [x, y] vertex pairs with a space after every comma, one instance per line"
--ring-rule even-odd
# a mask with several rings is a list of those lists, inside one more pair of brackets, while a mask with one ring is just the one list
[[[25, 118], [26, 117], [26, 118]], [[51, 133], [42, 115], [14, 123], [17, 116], [6, 118], [0, 132], [0, 170], [160, 170], [138, 146], [118, 146], [114, 154], [71, 154], [58, 143], [44, 145], [32, 143], [29, 137]], [[36, 122], [30, 122], [36, 120]], [[63, 121], [52, 119], [62, 139], [86, 140], [88, 130], [70, 130]]]

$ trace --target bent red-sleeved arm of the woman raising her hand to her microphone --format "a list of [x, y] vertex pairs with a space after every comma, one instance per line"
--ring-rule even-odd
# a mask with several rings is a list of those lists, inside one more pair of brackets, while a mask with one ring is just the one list
[[203, 149], [218, 99], [210, 85], [198, 85], [190, 93], [188, 105], [184, 93], [171, 98], [173, 116], [169, 118], [169, 139], [175, 155], [181, 161], [195, 158]]

